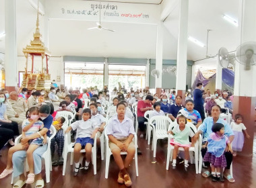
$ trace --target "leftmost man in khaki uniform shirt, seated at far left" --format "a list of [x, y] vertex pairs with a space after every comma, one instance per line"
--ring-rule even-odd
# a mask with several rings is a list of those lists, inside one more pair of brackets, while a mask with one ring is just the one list
[[11, 103], [11, 107], [14, 109], [14, 111], [19, 115], [26, 116], [26, 111], [28, 111], [28, 105], [26, 104], [25, 99], [23, 99], [22, 97], [18, 97], [18, 93], [15, 91], [11, 91], [9, 97], [9, 102]]

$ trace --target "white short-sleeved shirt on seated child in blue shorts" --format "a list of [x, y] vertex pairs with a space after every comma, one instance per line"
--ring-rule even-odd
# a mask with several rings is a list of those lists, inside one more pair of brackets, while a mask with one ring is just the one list
[[72, 130], [76, 130], [76, 138], [86, 138], [92, 136], [96, 124], [91, 119], [86, 121], [79, 120], [71, 124], [71, 128]]

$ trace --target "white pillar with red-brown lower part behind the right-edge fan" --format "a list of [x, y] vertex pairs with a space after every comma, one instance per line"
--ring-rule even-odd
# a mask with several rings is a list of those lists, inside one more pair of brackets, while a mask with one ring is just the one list
[[[243, 7], [243, 9], [242, 9]], [[256, 1], [240, 0], [240, 13], [238, 19], [238, 31], [241, 31], [241, 44], [256, 42]], [[255, 52], [254, 52], [255, 53]], [[256, 66], [251, 66], [245, 71], [245, 65], [236, 62], [234, 78], [233, 115], [241, 113], [243, 124], [247, 126], [247, 132], [251, 136], [245, 140], [241, 154], [251, 156], [253, 154], [253, 130], [255, 120], [256, 103]]]

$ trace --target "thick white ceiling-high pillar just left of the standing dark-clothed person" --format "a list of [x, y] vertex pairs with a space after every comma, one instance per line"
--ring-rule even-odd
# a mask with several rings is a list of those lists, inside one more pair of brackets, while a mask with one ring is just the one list
[[185, 99], [186, 91], [186, 71], [187, 71], [187, 28], [189, 17], [189, 0], [179, 1], [179, 35], [177, 50], [177, 94]]

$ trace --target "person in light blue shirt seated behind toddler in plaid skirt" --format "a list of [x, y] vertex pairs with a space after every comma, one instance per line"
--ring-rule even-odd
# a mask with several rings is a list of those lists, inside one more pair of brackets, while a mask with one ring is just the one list
[[[205, 143], [205, 141], [207, 141], [207, 136], [210, 136], [210, 134], [212, 134], [212, 126], [216, 123], [220, 123], [224, 125], [224, 135], [226, 135], [228, 137], [228, 140], [230, 140], [230, 143], [234, 140], [234, 133], [232, 131], [232, 129], [230, 128], [229, 124], [220, 119], [220, 106], [219, 105], [214, 105], [212, 107], [212, 117], [209, 118], [205, 118], [205, 120], [203, 121], [203, 124], [201, 124], [201, 126], [199, 126], [199, 129], [197, 131], [197, 133], [195, 134], [195, 140], [197, 140], [197, 138], [199, 137], [199, 134], [202, 134], [203, 136], [203, 144]], [[207, 152], [207, 147], [205, 148], [201, 148], [201, 154], [202, 157], [205, 156], [205, 153]], [[230, 165], [232, 163], [233, 160], [233, 156], [232, 153], [228, 150], [228, 147], [226, 148], [225, 152], [224, 152], [225, 158], [226, 158], [226, 169], [224, 170], [223, 176], [228, 179], [228, 181], [230, 182], [234, 182], [234, 178], [230, 175]], [[203, 172], [203, 177], [210, 177], [211, 173], [210, 173], [210, 163], [209, 162], [205, 162], [205, 166], [208, 167], [208, 171]], [[223, 179], [221, 180], [223, 181]]]

